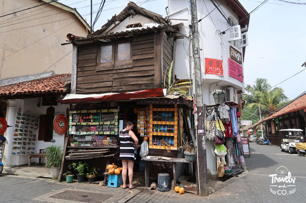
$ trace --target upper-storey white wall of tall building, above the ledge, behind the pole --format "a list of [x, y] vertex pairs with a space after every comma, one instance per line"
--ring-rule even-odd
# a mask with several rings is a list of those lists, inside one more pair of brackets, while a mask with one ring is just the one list
[[[217, 3], [221, 3], [222, 1], [217, 1]], [[205, 0], [206, 7], [202, 0], [197, 0], [197, 11], [198, 11], [198, 20], [206, 16], [210, 11], [212, 11], [215, 6], [211, 3], [210, 0]], [[180, 32], [189, 36], [189, 25], [191, 24], [190, 20], [190, 4], [187, 0], [168, 0], [169, 6], [169, 15], [170, 19], [189, 19], [189, 21], [183, 20], [171, 20], [172, 25], [183, 23], [184, 27], [180, 29]], [[232, 11], [230, 7], [228, 7], [225, 3], [221, 4], [222, 10], [226, 13], [227, 16], [231, 17], [234, 22], [238, 22], [238, 16], [236, 13]], [[182, 10], [179, 13], [175, 13], [178, 10], [183, 8], [188, 8]], [[175, 13], [175, 14], [171, 14]], [[210, 18], [213, 19], [211, 19]], [[237, 90], [244, 91], [244, 83], [229, 77], [229, 70], [228, 70], [228, 58], [229, 58], [229, 46], [231, 45], [228, 42], [228, 33], [225, 35], [220, 35], [218, 33], [228, 29], [228, 24], [224, 17], [219, 13], [217, 9], [215, 9], [210, 16], [204, 18], [200, 23], [198, 23], [198, 30], [200, 33], [200, 57], [201, 57], [201, 68], [202, 68], [202, 79], [206, 80], [205, 83], [214, 83], [215, 80], [220, 80], [224, 83], [225, 87], [227, 86], [234, 86]], [[215, 26], [216, 27], [215, 27]], [[181, 34], [180, 33], [180, 34]], [[183, 44], [184, 41], [184, 44]], [[176, 56], [175, 59], [177, 60], [176, 64], [180, 64], [176, 66], [174, 70], [174, 74], [178, 76], [179, 79], [187, 79], [190, 75], [190, 68], [189, 64], [187, 63], [188, 56], [186, 50], [189, 51], [189, 38], [184, 39], [177, 39], [177, 49], [176, 49]], [[185, 46], [184, 46], [185, 45]], [[233, 46], [233, 45], [231, 45]], [[185, 48], [185, 49], [184, 49]], [[242, 49], [238, 49], [242, 53]], [[189, 53], [189, 52], [188, 52]], [[217, 75], [206, 74], [204, 75], [205, 71], [205, 58], [216, 58], [223, 60], [223, 77]], [[185, 62], [185, 64], [184, 64]], [[243, 65], [242, 65], [243, 66]], [[220, 87], [220, 86], [219, 86]]]

